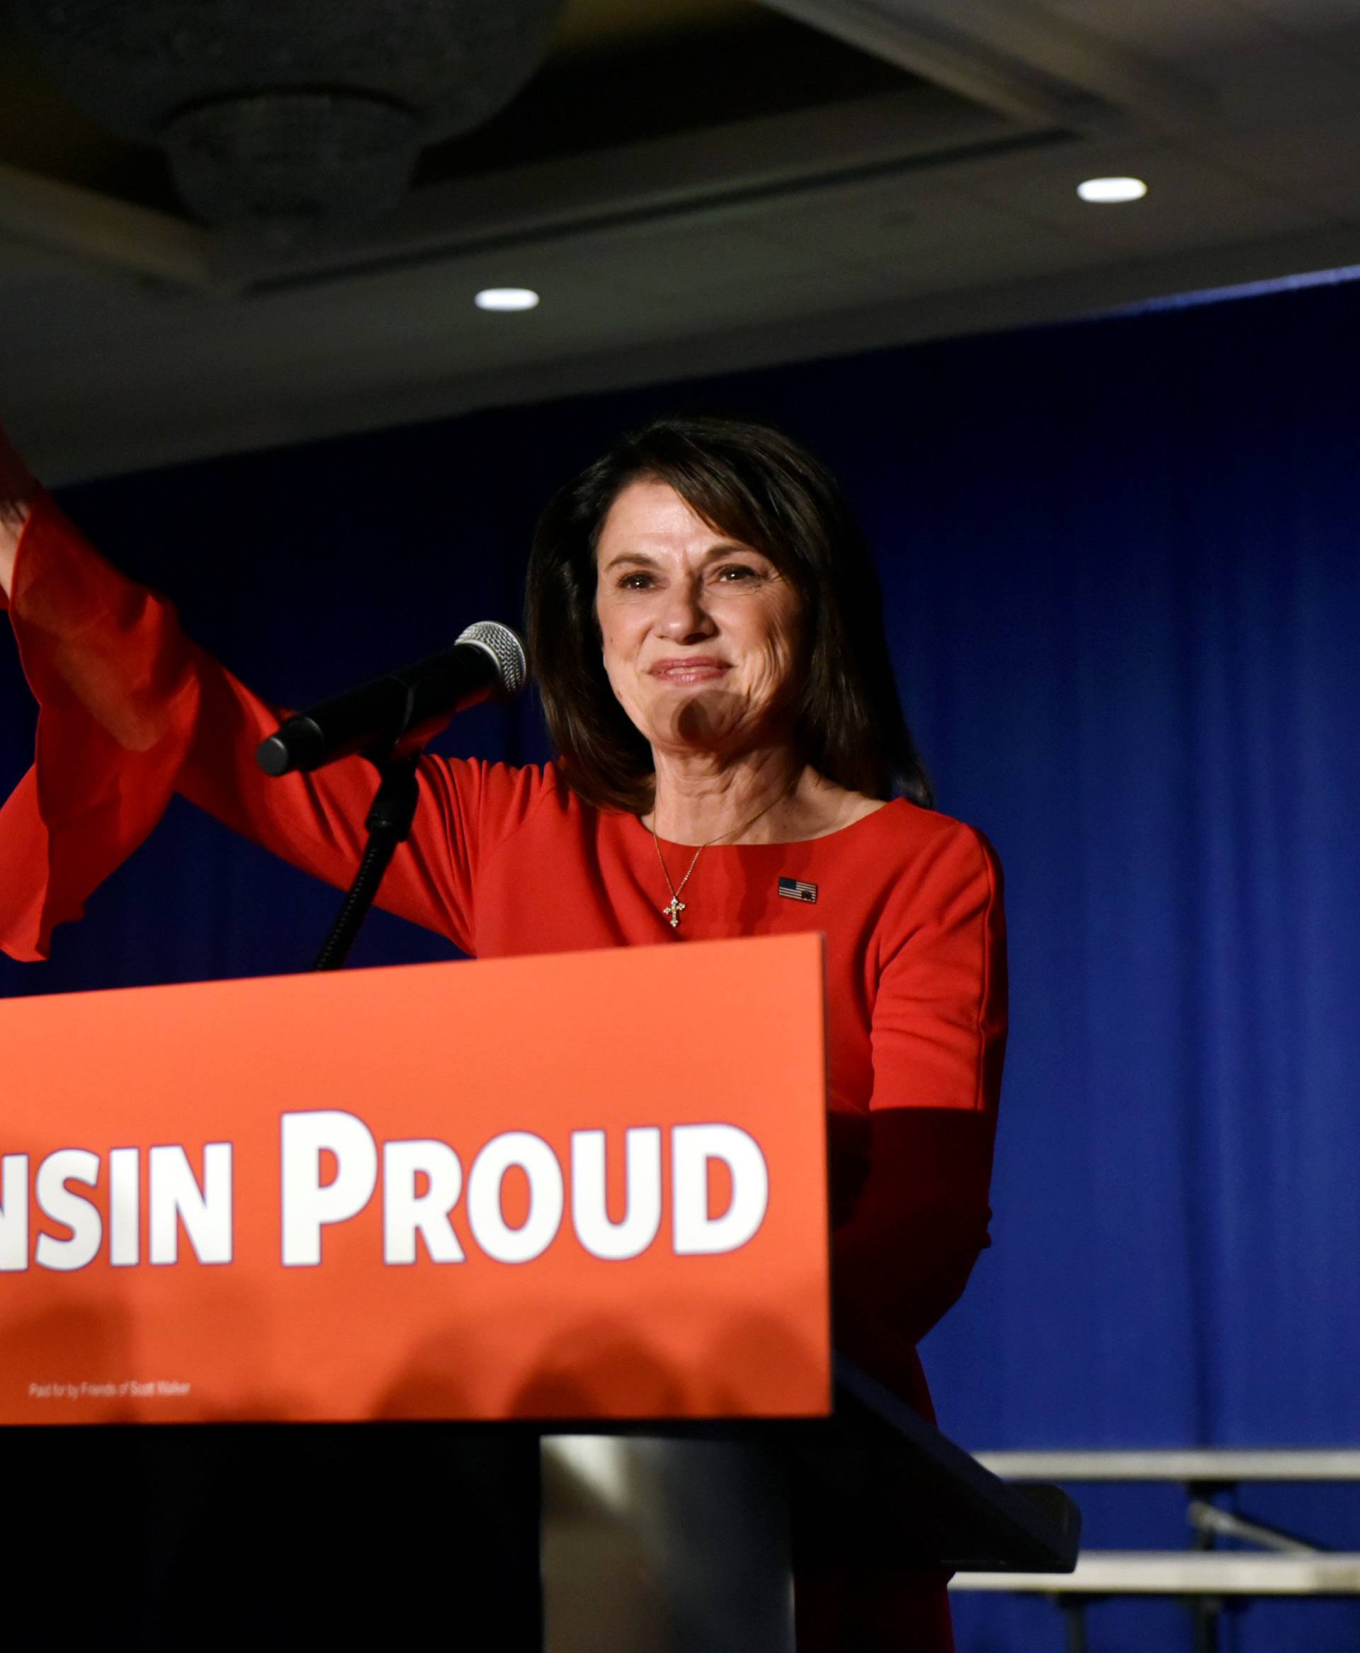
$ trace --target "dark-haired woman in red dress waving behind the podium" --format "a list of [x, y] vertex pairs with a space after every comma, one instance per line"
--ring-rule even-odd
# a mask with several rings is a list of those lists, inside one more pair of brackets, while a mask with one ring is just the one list
[[[345, 884], [372, 769], [264, 779], [278, 712], [0, 464], [0, 585], [41, 704], [0, 813], [0, 944], [41, 955], [174, 790]], [[929, 808], [836, 483], [767, 426], [649, 425], [550, 503], [527, 630], [559, 759], [426, 757], [383, 904], [478, 955], [823, 931], [836, 1342], [929, 1413], [915, 1342], [987, 1243], [1000, 871]], [[942, 1577], [818, 1567], [831, 1536], [800, 1521], [801, 1645], [949, 1646]]]

